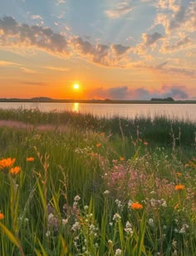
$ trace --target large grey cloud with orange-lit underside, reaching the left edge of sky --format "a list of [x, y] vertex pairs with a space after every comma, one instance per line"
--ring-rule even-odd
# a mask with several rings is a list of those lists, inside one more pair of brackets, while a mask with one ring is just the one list
[[13, 17], [0, 19], [0, 45], [2, 47], [37, 47], [53, 54], [68, 55], [66, 37], [49, 27], [20, 24]]

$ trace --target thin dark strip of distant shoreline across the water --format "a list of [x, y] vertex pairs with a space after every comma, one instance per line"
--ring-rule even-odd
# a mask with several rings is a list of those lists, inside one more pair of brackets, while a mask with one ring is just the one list
[[196, 101], [113, 101], [113, 100], [56, 100], [44, 98], [0, 99], [0, 102], [20, 103], [96, 103], [96, 104], [196, 104]]

